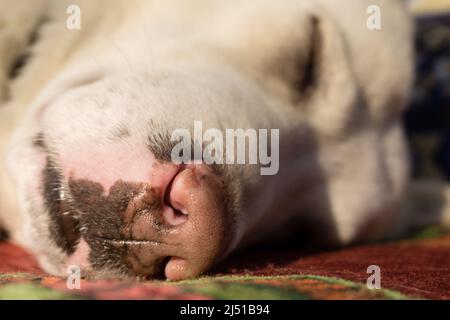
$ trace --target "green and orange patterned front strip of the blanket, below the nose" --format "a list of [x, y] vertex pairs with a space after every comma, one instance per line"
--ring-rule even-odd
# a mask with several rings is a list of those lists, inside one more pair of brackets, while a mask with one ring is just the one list
[[[109, 281], [91, 282], [89, 289], [68, 290], [61, 285], [64, 279], [46, 281], [51, 277], [35, 277], [31, 274], [16, 273], [1, 275], [0, 299], [95, 299], [102, 296], [104, 290], [111, 289], [111, 284], [120, 287], [120, 299], [134, 298], [146, 299], [146, 290], [155, 288], [173, 287], [180, 296], [195, 294], [197, 298], [204, 299], [258, 299], [258, 300], [310, 300], [339, 297], [345, 299], [408, 299], [409, 297], [392, 290], [369, 290], [364, 284], [346, 281], [343, 279], [314, 276], [223, 276], [203, 277], [196, 280], [169, 282], [148, 281], [124, 282]], [[157, 298], [164, 299], [164, 290]], [[142, 295], [139, 295], [142, 293]]]

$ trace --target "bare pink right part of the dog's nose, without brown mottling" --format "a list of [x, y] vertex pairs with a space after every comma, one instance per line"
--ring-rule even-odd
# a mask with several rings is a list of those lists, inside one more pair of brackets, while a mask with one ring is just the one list
[[176, 226], [181, 251], [166, 267], [168, 279], [197, 276], [224, 254], [230, 240], [231, 217], [227, 216], [222, 181], [203, 165], [187, 165], [176, 175], [166, 193], [173, 210], [163, 210]]

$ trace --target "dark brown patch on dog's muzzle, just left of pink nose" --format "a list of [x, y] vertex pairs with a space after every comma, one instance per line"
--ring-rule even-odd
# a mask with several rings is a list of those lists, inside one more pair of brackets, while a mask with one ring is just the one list
[[[89, 260], [95, 269], [162, 276], [167, 257], [157, 247], [164, 245], [162, 238], [172, 227], [163, 222], [158, 189], [117, 181], [105, 195], [100, 184], [89, 180], [71, 179], [69, 186], [73, 205], [81, 213], [82, 236], [91, 248]], [[145, 239], [135, 228], [148, 231]], [[123, 242], [130, 240], [148, 243], [139, 246]]]

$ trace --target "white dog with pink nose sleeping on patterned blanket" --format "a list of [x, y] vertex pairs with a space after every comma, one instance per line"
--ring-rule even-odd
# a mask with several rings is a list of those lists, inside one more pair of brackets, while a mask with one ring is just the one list
[[[448, 189], [409, 180], [402, 1], [0, 8], [0, 223], [50, 273], [185, 279], [262, 241], [340, 246], [450, 220]], [[174, 163], [171, 135], [195, 121], [279, 129], [278, 174]]]

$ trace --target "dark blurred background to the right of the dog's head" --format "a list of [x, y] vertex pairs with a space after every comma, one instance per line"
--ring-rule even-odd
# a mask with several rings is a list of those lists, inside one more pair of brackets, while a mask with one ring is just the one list
[[416, 82], [405, 126], [416, 177], [450, 181], [450, 0], [412, 1]]

